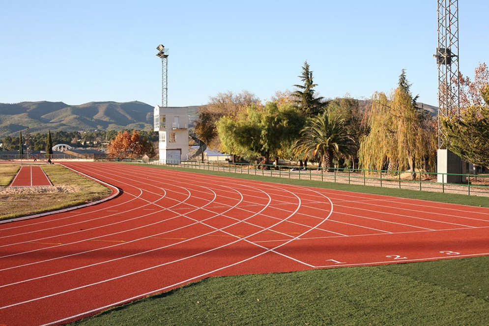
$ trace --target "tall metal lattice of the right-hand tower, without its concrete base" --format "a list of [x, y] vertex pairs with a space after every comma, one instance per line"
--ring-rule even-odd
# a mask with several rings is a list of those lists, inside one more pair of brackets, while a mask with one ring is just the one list
[[440, 118], [460, 117], [458, 4], [438, 0], [438, 148], [444, 147]]

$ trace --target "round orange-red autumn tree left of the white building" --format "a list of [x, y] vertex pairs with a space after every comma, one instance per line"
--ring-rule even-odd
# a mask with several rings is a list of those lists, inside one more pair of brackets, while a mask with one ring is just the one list
[[127, 130], [118, 132], [107, 150], [110, 156], [120, 158], [136, 158], [142, 157], [144, 154], [149, 157], [156, 155], [153, 144], [146, 137], [141, 137], [137, 130], [134, 130], [132, 134]]

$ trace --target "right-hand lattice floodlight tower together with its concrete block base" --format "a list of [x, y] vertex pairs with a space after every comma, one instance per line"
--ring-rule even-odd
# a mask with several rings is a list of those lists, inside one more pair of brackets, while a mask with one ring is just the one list
[[438, 45], [433, 57], [438, 64], [437, 179], [442, 183], [464, 181], [466, 167], [457, 154], [446, 149], [441, 119], [460, 119], [459, 1], [438, 0]]

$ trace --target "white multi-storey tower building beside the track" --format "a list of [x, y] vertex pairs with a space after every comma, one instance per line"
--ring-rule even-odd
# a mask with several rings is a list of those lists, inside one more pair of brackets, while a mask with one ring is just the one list
[[188, 149], [188, 108], [154, 107], [154, 131], [159, 134], [160, 162], [178, 164]]

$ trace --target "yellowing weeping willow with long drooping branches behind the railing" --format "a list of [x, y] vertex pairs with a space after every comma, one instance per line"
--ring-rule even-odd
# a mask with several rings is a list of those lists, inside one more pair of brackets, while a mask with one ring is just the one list
[[425, 170], [434, 166], [436, 132], [427, 116], [416, 107], [405, 73], [390, 98], [375, 93], [368, 112], [370, 133], [360, 143], [359, 159], [364, 169], [390, 171]]

